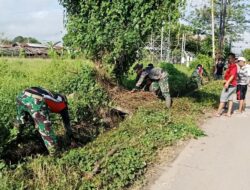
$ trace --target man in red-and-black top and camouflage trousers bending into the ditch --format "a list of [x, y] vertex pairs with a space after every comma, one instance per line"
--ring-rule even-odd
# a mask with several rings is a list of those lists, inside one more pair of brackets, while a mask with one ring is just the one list
[[50, 155], [54, 155], [57, 151], [57, 137], [51, 128], [49, 112], [59, 113], [62, 116], [66, 135], [73, 143], [66, 97], [40, 87], [31, 87], [17, 96], [16, 104], [19, 130], [31, 116]]

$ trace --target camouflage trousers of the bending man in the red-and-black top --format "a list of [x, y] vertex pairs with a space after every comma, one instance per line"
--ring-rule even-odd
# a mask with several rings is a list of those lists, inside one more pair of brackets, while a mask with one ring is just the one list
[[56, 152], [57, 137], [51, 128], [48, 108], [42, 98], [35, 95], [26, 95], [22, 92], [17, 96], [17, 121], [25, 124], [25, 116], [29, 114], [35, 122], [45, 146], [50, 154]]

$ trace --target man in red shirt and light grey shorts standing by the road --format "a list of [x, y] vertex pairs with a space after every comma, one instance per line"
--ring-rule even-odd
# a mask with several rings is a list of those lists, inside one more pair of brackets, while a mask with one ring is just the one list
[[224, 87], [220, 96], [220, 104], [216, 116], [219, 117], [222, 114], [222, 109], [226, 102], [228, 102], [227, 116], [231, 116], [233, 107], [233, 95], [236, 92], [237, 87], [237, 65], [235, 63], [235, 54], [230, 53], [228, 56], [228, 68], [224, 75]]

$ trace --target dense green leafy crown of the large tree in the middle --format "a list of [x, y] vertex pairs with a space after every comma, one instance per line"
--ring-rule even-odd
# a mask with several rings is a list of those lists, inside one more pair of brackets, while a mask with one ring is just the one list
[[[119, 76], [137, 59], [147, 37], [163, 21], [176, 21], [181, 0], [59, 0], [67, 11], [66, 46], [96, 63], [111, 63]], [[170, 11], [171, 10], [171, 14]]]

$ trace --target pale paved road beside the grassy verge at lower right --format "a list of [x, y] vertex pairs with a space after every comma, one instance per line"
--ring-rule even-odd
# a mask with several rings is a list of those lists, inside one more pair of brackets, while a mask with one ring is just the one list
[[[247, 100], [250, 105], [250, 91]], [[231, 118], [211, 118], [202, 128], [207, 136], [192, 140], [145, 189], [250, 189], [250, 106]]]

